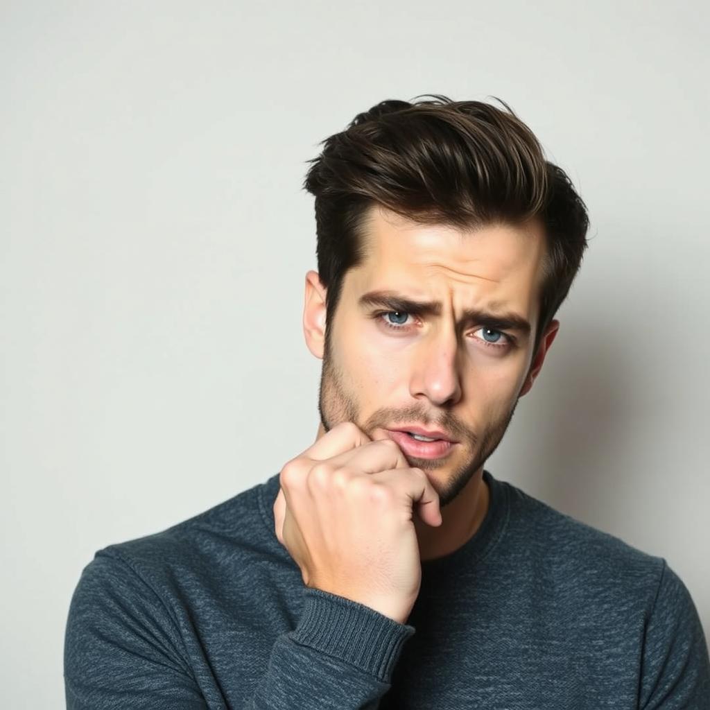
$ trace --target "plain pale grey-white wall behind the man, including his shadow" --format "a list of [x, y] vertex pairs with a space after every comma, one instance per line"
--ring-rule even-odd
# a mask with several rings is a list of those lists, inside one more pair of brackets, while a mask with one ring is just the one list
[[708, 5], [6, 2], [3, 705], [63, 704], [94, 552], [266, 480], [317, 428], [317, 143], [501, 97], [591, 215], [494, 476], [665, 557], [710, 630]]

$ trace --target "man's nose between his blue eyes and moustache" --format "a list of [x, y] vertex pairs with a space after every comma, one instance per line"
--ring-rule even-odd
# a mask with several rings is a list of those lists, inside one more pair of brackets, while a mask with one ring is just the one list
[[414, 357], [410, 394], [415, 399], [426, 397], [439, 407], [456, 404], [461, 399], [461, 375], [454, 329], [432, 334]]

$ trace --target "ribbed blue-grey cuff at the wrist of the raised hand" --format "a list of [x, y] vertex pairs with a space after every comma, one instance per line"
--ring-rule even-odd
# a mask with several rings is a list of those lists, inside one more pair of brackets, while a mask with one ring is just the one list
[[304, 606], [293, 640], [349, 662], [382, 682], [392, 672], [415, 628], [364, 604], [321, 589], [304, 591]]

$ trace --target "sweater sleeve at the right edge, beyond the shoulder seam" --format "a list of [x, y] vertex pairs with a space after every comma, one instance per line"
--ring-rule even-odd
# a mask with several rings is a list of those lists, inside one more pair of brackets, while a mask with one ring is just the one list
[[710, 710], [710, 661], [687, 587], [663, 563], [645, 628], [639, 707]]

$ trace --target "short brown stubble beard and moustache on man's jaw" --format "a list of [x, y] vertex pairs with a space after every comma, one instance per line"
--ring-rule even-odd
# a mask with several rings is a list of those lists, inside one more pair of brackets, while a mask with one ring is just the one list
[[[359, 404], [355, 396], [346, 391], [344, 381], [345, 377], [342, 368], [333, 361], [330, 339], [328, 332], [326, 332], [318, 393], [318, 412], [321, 424], [326, 432], [329, 432], [332, 427], [341, 422], [354, 422], [371, 437], [371, 432], [378, 427], [386, 427], [386, 425], [392, 425], [396, 422], [418, 421], [443, 427], [445, 430], [452, 432], [459, 439], [459, 442], [467, 444], [469, 451], [474, 452], [473, 457], [467, 463], [459, 466], [458, 469], [449, 475], [449, 481], [443, 488], [437, 485], [435, 481], [432, 481], [432, 485], [435, 486], [439, 494], [439, 506], [442, 508], [457, 498], [459, 493], [466, 487], [466, 484], [469, 483], [471, 477], [496, 451], [498, 444], [501, 443], [503, 435], [508, 429], [510, 420], [513, 418], [515, 408], [518, 406], [518, 398], [515, 398], [515, 403], [513, 403], [510, 411], [486, 427], [486, 431], [480, 438], [474, 432], [461, 425], [461, 422], [455, 419], [448, 411], [444, 411], [443, 416], [436, 421], [427, 421], [427, 415], [422, 413], [421, 408], [416, 405], [398, 410], [381, 408], [368, 417], [366, 422], [361, 422]], [[423, 471], [439, 468], [438, 462], [432, 461], [432, 459], [419, 459], [407, 454], [405, 454], [405, 458], [410, 466]]]

